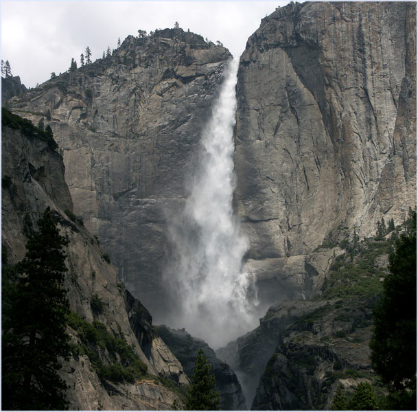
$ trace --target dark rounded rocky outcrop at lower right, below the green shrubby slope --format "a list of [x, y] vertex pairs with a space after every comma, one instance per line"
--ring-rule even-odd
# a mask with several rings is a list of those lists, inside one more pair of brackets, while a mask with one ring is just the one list
[[[292, 312], [294, 304], [287, 306], [281, 311]], [[338, 385], [348, 391], [362, 381], [378, 386], [369, 359], [370, 337], [370, 308], [342, 299], [311, 306], [286, 328], [264, 369], [252, 409], [329, 410]]]

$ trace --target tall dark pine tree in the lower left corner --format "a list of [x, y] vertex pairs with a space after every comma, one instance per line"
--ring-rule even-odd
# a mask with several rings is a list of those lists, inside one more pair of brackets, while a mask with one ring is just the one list
[[[67, 240], [49, 207], [28, 236], [25, 258], [9, 268], [2, 300], [2, 409], [64, 409], [58, 358], [69, 358], [64, 282]], [[5, 293], [4, 293], [5, 292]]]

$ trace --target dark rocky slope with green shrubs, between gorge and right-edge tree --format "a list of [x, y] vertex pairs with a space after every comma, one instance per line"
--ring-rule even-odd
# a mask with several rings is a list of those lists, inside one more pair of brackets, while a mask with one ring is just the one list
[[322, 296], [271, 306], [259, 327], [216, 351], [240, 378], [255, 410], [329, 409], [338, 385], [362, 380], [383, 389], [370, 361], [372, 308], [383, 290], [388, 253], [402, 227], [382, 238], [341, 242]]

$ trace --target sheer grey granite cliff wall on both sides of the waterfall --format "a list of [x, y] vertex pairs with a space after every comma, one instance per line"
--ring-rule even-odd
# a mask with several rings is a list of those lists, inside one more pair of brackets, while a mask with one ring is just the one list
[[[399, 224], [415, 200], [413, 3], [290, 3], [240, 59], [234, 205], [260, 313], [320, 293], [340, 227]], [[129, 36], [111, 57], [8, 104], [49, 120], [76, 214], [157, 321], [176, 304], [161, 273], [202, 128], [231, 55], [181, 29]]]

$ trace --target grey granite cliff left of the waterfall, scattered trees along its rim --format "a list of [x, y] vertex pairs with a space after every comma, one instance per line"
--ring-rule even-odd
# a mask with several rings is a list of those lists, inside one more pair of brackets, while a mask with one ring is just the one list
[[167, 218], [184, 203], [230, 58], [197, 34], [159, 30], [10, 100], [14, 113], [51, 126], [75, 213], [154, 317], [170, 309], [161, 290]]

